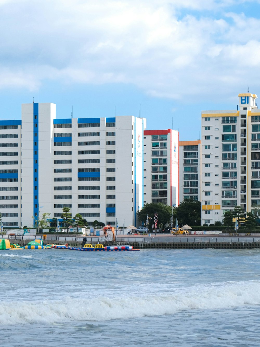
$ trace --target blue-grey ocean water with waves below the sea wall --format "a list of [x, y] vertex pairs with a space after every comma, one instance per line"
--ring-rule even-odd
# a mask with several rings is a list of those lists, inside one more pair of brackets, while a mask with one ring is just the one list
[[0, 251], [0, 346], [259, 346], [260, 251]]

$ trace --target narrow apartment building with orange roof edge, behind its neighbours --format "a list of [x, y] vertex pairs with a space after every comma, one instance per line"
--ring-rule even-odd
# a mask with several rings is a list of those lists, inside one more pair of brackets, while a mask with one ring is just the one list
[[180, 141], [180, 202], [201, 201], [201, 140]]

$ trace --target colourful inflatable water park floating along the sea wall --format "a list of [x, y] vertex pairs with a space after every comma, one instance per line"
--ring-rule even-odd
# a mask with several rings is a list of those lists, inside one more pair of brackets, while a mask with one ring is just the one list
[[83, 247], [70, 247], [66, 245], [54, 245], [54, 244], [43, 244], [42, 239], [35, 239], [29, 242], [26, 246], [19, 246], [18, 244], [11, 243], [8, 239], [0, 240], [0, 250], [11, 250], [11, 249], [69, 249], [72, 251], [90, 251], [90, 252], [122, 252], [122, 251], [140, 251], [140, 249], [133, 248], [132, 246], [103, 246], [102, 244], [85, 244]]

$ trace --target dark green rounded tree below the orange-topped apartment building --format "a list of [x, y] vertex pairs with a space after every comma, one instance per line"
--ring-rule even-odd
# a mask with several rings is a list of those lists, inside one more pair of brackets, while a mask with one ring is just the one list
[[185, 199], [176, 208], [180, 225], [201, 225], [201, 202], [193, 199]]

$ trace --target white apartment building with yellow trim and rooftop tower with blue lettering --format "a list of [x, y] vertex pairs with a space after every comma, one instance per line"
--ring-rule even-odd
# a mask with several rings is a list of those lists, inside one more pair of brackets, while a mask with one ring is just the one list
[[257, 95], [239, 94], [237, 109], [202, 111], [201, 223], [260, 205], [260, 110]]

